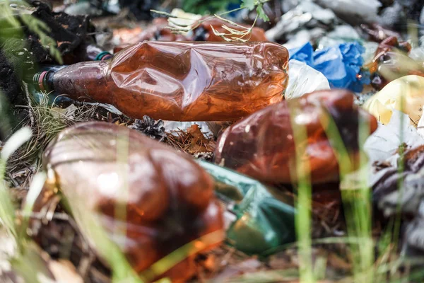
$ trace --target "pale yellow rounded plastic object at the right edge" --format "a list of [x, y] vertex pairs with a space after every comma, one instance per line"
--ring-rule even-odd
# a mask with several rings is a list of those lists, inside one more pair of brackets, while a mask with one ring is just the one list
[[392, 110], [404, 112], [416, 126], [423, 115], [424, 77], [403, 76], [391, 81], [368, 99], [363, 108], [374, 115], [379, 122], [388, 124]]

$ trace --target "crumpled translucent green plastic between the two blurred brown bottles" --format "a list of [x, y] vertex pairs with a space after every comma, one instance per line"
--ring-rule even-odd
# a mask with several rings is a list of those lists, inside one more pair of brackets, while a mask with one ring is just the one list
[[237, 220], [227, 231], [232, 246], [245, 253], [261, 254], [295, 241], [293, 199], [230, 169], [198, 162], [215, 178], [218, 197], [234, 204], [230, 210]]

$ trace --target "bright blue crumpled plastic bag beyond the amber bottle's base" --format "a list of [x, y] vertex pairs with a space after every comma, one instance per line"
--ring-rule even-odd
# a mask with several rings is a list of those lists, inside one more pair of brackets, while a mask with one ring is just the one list
[[367, 74], [361, 71], [364, 51], [364, 47], [358, 42], [348, 42], [314, 52], [310, 42], [307, 42], [289, 53], [290, 59], [305, 62], [324, 74], [331, 88], [348, 88], [361, 92], [363, 84], [370, 83]]

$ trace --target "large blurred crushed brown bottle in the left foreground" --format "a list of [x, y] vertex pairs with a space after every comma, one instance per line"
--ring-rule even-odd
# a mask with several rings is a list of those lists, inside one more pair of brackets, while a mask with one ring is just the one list
[[[201, 250], [223, 241], [213, 179], [189, 156], [135, 130], [106, 122], [69, 127], [47, 146], [43, 166], [47, 184], [66, 197], [77, 223], [88, 212], [98, 214], [136, 272], [145, 274], [153, 263], [191, 241]], [[211, 233], [213, 241], [199, 239]], [[183, 282], [193, 275], [196, 251], [180, 253], [182, 262], [174, 262], [164, 275], [150, 270], [150, 279], [166, 275]]]

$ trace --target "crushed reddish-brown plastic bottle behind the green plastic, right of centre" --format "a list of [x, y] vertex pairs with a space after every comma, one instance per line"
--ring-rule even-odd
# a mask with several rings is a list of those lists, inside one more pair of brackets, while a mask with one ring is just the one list
[[[290, 112], [294, 113], [291, 119]], [[214, 161], [266, 183], [295, 182], [293, 123], [293, 127], [307, 130], [307, 141], [298, 146], [302, 162], [309, 162], [312, 183], [337, 181], [335, 141], [326, 137], [329, 125], [323, 125], [321, 118], [334, 120], [353, 167], [357, 166], [359, 121], [374, 132], [377, 120], [358, 108], [353, 94], [346, 90], [316, 91], [255, 112], [225, 130], [218, 139]]]

